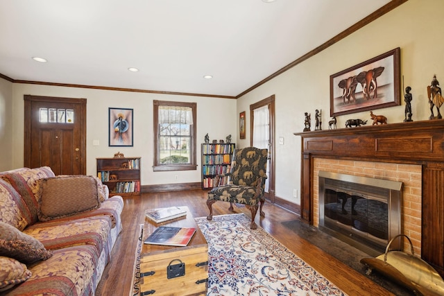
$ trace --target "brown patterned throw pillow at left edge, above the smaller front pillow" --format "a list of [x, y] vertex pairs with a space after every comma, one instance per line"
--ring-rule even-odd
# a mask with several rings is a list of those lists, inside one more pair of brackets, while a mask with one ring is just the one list
[[0, 256], [7, 256], [22, 263], [49, 259], [53, 255], [44, 245], [19, 229], [0, 222]]

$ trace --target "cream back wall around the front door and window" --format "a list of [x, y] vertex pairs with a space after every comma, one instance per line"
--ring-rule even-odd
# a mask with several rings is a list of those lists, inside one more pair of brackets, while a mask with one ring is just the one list
[[[60, 96], [87, 99], [87, 175], [96, 174], [96, 157], [112, 157], [118, 151], [128, 157], [142, 157], [142, 185], [172, 184], [200, 181], [200, 143], [205, 134], [210, 139], [225, 139], [236, 131], [236, 123], [226, 120], [236, 111], [236, 100], [198, 96], [173, 96], [116, 92], [75, 87], [51, 87], [45, 85], [13, 85], [15, 137], [13, 139], [12, 168], [23, 166], [24, 145], [24, 95]], [[197, 103], [197, 171], [153, 172], [153, 100], [187, 101]], [[108, 107], [134, 110], [134, 146], [108, 147]], [[227, 116], [229, 114], [229, 116]], [[216, 116], [218, 115], [218, 116]], [[235, 138], [234, 138], [235, 139]], [[99, 146], [93, 146], [99, 140]], [[174, 179], [178, 175], [178, 180]]]

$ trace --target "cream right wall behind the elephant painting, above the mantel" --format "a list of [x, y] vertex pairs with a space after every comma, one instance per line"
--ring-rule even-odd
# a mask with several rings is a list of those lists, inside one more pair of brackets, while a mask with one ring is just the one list
[[[275, 194], [278, 197], [296, 202], [293, 189], [300, 193], [301, 143], [300, 137], [294, 136], [293, 132], [302, 132], [304, 112], [311, 113], [311, 130], [314, 130], [314, 112], [322, 110], [323, 129], [328, 128], [327, 122], [331, 119], [330, 75], [400, 47], [401, 75], [413, 94], [412, 119], [428, 119], [427, 85], [435, 73], [444, 87], [443, 24], [444, 1], [409, 0], [237, 100], [238, 112], [247, 112], [246, 126], [249, 127], [250, 104], [275, 94]], [[400, 106], [374, 110], [374, 113], [385, 115], [388, 123], [402, 122], [405, 107], [402, 92], [401, 96]], [[345, 121], [350, 118], [370, 119], [370, 116], [369, 112], [339, 116], [338, 128], [344, 128]], [[248, 128], [247, 139], [249, 132]], [[279, 145], [279, 137], [284, 137], [284, 145]], [[241, 143], [247, 144], [246, 141]]]

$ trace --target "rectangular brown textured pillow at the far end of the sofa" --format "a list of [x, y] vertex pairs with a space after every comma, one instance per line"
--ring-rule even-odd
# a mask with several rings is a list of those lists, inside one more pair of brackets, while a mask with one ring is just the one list
[[44, 178], [40, 184], [38, 217], [49, 221], [97, 209], [100, 206], [98, 184], [85, 175]]

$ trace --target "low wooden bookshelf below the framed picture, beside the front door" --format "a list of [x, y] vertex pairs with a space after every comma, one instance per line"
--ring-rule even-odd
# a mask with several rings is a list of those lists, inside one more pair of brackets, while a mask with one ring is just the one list
[[112, 195], [140, 195], [141, 157], [97, 158], [97, 177]]

